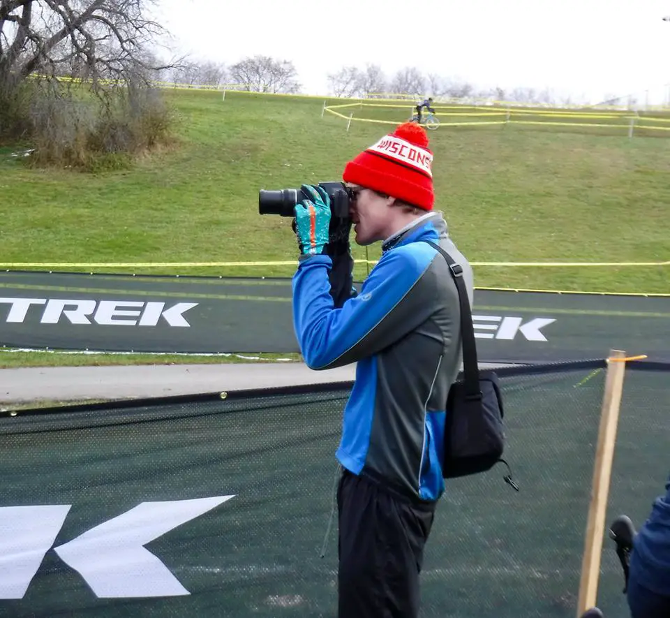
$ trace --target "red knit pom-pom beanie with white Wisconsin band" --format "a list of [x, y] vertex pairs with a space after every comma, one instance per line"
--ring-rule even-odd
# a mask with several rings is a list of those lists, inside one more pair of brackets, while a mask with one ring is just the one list
[[344, 182], [432, 210], [435, 202], [432, 163], [433, 153], [428, 149], [425, 129], [405, 122], [349, 161], [342, 178]]

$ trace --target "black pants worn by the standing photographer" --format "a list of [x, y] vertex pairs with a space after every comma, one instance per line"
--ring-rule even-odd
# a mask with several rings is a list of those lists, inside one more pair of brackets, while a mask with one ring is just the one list
[[339, 513], [339, 618], [416, 618], [435, 503], [413, 503], [344, 471]]

